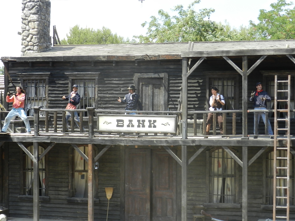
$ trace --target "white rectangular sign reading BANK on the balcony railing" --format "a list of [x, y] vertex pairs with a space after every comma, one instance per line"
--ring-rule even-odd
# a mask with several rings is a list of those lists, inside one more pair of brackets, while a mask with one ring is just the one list
[[176, 116], [98, 114], [98, 131], [176, 133]]

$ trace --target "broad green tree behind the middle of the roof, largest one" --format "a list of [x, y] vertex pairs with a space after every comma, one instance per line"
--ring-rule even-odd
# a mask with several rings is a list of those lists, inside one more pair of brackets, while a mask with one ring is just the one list
[[183, 9], [182, 5], [175, 6], [177, 16], [171, 16], [163, 10], [158, 11], [159, 18], [152, 16], [150, 22], [144, 22], [142, 27], [148, 25], [146, 35], [134, 36], [133, 42], [188, 42], [188, 41], [224, 41], [246, 40], [249, 37], [248, 29], [231, 29], [228, 24], [222, 25], [211, 21], [210, 14], [214, 9], [200, 9], [195, 11], [193, 7], [200, 0], [195, 0]]

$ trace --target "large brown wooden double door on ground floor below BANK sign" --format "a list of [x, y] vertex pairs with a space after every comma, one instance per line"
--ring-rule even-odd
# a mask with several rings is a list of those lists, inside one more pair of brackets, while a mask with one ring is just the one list
[[153, 149], [126, 149], [125, 157], [125, 221], [175, 221], [176, 161]]

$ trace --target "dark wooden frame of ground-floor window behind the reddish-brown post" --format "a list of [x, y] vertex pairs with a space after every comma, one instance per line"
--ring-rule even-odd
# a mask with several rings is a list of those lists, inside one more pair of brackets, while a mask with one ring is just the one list
[[[88, 144], [81, 144], [77, 147], [86, 147], [88, 148]], [[75, 188], [74, 188], [74, 182], [75, 182], [75, 148], [69, 149], [69, 193], [68, 193], [68, 202], [87, 202], [88, 198], [81, 198], [81, 197], [75, 197]], [[96, 146], [93, 146], [94, 156], [98, 153], [98, 148]], [[79, 154], [79, 153], [78, 153]], [[84, 153], [85, 154], [85, 153]], [[83, 159], [85, 161], [85, 159]], [[95, 163], [95, 162], [94, 162]], [[99, 202], [99, 190], [98, 190], [98, 169], [94, 169], [93, 173], [93, 181], [94, 181], [94, 202]], [[87, 169], [88, 174], [88, 169]]]

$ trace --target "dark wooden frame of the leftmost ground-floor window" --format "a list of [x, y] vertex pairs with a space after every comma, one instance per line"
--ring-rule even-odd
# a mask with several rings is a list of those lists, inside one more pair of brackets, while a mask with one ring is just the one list
[[[33, 143], [32, 144], [27, 144], [25, 147], [28, 148], [30, 146], [33, 146]], [[43, 148], [44, 151], [46, 150], [47, 146], [42, 144], [42, 143], [38, 143], [38, 148]], [[33, 153], [31, 153], [33, 154]], [[24, 151], [22, 149], [20, 149], [20, 190], [19, 190], [19, 198], [22, 198], [22, 199], [33, 199], [33, 195], [25, 195], [25, 191], [24, 191], [24, 169], [25, 169], [25, 162], [26, 162], [26, 159], [28, 157], [28, 155], [26, 153], [24, 153]], [[26, 158], [26, 159], [24, 159]], [[46, 198], [49, 199], [49, 188], [48, 188], [48, 185], [49, 185], [49, 169], [48, 169], [48, 154], [45, 154], [44, 156], [44, 161], [45, 161], [45, 196], [41, 196], [40, 195], [40, 199], [41, 200], [46, 200]], [[39, 173], [38, 173], [39, 174]], [[39, 174], [40, 175], [40, 174]], [[40, 177], [39, 177], [40, 179]], [[42, 188], [42, 187], [41, 187]], [[40, 189], [40, 187], [39, 187]]]

